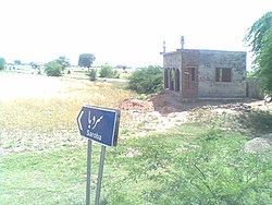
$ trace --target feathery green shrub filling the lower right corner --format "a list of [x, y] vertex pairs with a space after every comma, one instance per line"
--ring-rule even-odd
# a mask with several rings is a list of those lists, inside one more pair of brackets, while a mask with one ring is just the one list
[[163, 193], [173, 194], [177, 204], [267, 204], [271, 160], [244, 153], [243, 142], [239, 134], [214, 129], [203, 133], [196, 148], [175, 164]]

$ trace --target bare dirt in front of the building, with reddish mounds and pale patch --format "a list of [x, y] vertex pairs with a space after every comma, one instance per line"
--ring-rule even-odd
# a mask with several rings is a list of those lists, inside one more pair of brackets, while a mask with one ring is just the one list
[[[146, 122], [154, 123], [162, 128], [169, 128], [172, 125], [178, 125], [187, 122], [188, 113], [195, 110], [213, 109], [219, 112], [234, 112], [245, 111], [251, 108], [260, 110], [272, 110], [272, 102], [265, 102], [264, 100], [257, 100], [250, 98], [243, 99], [200, 99], [200, 100], [187, 100], [182, 101], [181, 97], [171, 91], [165, 91], [148, 100], [139, 100], [134, 98], [125, 99], [120, 108], [123, 111], [134, 112], [137, 118], [146, 118]], [[162, 123], [158, 123], [161, 121]], [[147, 125], [149, 126], [149, 124]], [[149, 126], [150, 128], [150, 126]]]

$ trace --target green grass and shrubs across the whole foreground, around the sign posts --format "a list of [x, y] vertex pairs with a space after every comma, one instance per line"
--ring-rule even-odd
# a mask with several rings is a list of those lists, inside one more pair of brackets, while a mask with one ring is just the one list
[[[267, 204], [271, 159], [243, 154], [246, 140], [197, 123], [120, 140], [106, 153], [101, 204]], [[85, 204], [86, 152], [87, 142], [3, 156], [1, 204]], [[92, 194], [99, 152], [94, 145]]]

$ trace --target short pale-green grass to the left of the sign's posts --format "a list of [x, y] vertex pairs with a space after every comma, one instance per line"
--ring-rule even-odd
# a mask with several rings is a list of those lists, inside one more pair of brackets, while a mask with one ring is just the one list
[[84, 158], [82, 148], [4, 156], [0, 201], [2, 204], [83, 202]]

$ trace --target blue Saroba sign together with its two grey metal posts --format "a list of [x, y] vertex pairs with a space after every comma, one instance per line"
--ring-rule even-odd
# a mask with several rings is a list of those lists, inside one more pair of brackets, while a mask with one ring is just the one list
[[118, 144], [120, 114], [120, 110], [116, 109], [83, 106], [77, 117], [79, 133], [88, 138], [86, 205], [89, 205], [91, 201], [91, 142], [101, 144], [96, 192], [96, 205], [99, 205], [106, 147], [116, 146]]

